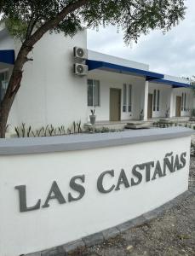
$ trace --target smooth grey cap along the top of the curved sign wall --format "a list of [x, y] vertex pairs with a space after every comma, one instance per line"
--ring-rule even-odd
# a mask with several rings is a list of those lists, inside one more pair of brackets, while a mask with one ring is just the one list
[[54, 137], [0, 139], [0, 155], [41, 154], [106, 148], [135, 143], [151, 143], [178, 137], [190, 137], [194, 131], [185, 127], [132, 130]]

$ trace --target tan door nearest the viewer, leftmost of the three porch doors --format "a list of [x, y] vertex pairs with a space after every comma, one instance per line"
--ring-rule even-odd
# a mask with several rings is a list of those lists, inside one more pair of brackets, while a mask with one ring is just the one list
[[121, 119], [121, 90], [110, 89], [110, 120], [120, 121]]

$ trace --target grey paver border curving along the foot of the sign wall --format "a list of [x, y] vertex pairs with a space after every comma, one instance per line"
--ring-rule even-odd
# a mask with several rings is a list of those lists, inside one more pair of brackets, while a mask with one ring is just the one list
[[146, 224], [152, 219], [162, 216], [164, 212], [168, 211], [172, 207], [177, 206], [181, 203], [181, 201], [186, 200], [186, 198], [190, 195], [195, 195], [195, 191], [187, 190], [183, 194], [175, 197], [175, 199], [173, 199], [172, 201], [163, 204], [163, 206], [158, 207], [150, 212], [146, 212], [141, 216], [131, 219], [123, 224], [119, 224], [116, 227], [110, 228], [108, 230], [103, 230], [91, 236], [85, 236], [82, 239], [66, 243], [65, 245], [62, 245], [60, 247], [53, 247], [49, 250], [44, 250], [37, 253], [29, 253], [24, 256], [66, 256], [67, 253], [72, 253], [76, 249], [82, 250], [84, 247], [94, 246], [112, 237], [118, 236], [129, 229], [138, 227], [142, 224]]

